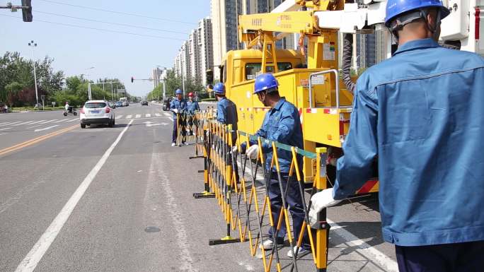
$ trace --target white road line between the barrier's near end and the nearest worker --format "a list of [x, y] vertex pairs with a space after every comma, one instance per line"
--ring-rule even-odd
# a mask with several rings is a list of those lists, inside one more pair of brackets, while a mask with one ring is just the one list
[[371, 261], [375, 261], [376, 264], [379, 264], [379, 266], [384, 268], [385, 271], [398, 272], [398, 264], [396, 263], [396, 261], [393, 261], [393, 259], [391, 259], [389, 256], [386, 256], [383, 252], [380, 252], [378, 249], [371, 247], [369, 244], [367, 244], [363, 240], [360, 240], [351, 232], [345, 230], [329, 218], [326, 218], [326, 221], [331, 225], [331, 232], [346, 240], [346, 244], [355, 249], [359, 254], [362, 254]]

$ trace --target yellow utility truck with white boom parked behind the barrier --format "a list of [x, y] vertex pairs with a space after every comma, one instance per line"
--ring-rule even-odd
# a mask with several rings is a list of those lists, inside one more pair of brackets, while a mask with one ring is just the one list
[[[238, 37], [245, 49], [227, 52], [219, 67], [226, 95], [238, 109], [239, 130], [253, 134], [262, 124], [268, 108], [253, 95], [254, 79], [259, 73], [274, 73], [280, 83], [280, 94], [301, 114], [304, 149], [314, 152], [316, 147], [323, 146], [328, 148], [330, 157], [342, 155], [342, 143], [350, 127], [352, 90], [346, 87], [351, 86], [347, 82], [349, 66], [347, 71], [341, 71], [338, 63], [338, 52], [343, 48], [339, 45], [339, 33], [352, 38], [355, 33], [383, 31], [384, 42], [379, 50], [391, 57], [396, 49], [383, 26], [386, 1], [349, 2], [287, 0], [271, 13], [239, 16]], [[479, 11], [484, 3], [481, 2], [484, 1], [444, 1], [451, 8], [461, 5], [459, 11], [456, 9], [443, 20], [444, 42], [484, 53], [484, 42], [479, 40], [483, 24]], [[449, 30], [445, 30], [446, 25]], [[277, 40], [287, 33], [299, 35], [301, 50], [276, 49]], [[346, 46], [344, 49], [351, 52], [343, 52], [343, 61], [345, 53], [351, 56], [353, 50]], [[342, 78], [346, 78], [345, 82]], [[315, 174], [315, 162], [305, 159], [304, 181], [312, 182]], [[373, 191], [378, 191], [376, 179], [364, 184], [355, 194]]]

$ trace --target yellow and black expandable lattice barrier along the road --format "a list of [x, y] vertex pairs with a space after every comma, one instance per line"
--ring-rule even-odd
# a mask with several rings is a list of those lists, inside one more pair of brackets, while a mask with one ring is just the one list
[[[226, 244], [232, 242], [248, 242], [251, 256], [259, 256], [263, 261], [265, 272], [298, 271], [298, 252], [304, 236], [307, 235], [311, 247], [311, 259], [316, 271], [326, 271], [328, 262], [328, 234], [330, 226], [326, 223], [326, 212], [318, 214], [318, 226], [309, 225], [309, 210], [311, 200], [304, 190], [304, 180], [300, 165], [301, 158], [313, 160], [316, 164], [316, 176], [313, 178], [311, 196], [317, 191], [326, 188], [326, 148], [316, 148], [316, 153], [311, 153], [294, 146], [269, 141], [247, 134], [243, 131], [232, 131], [231, 125], [218, 123], [213, 118], [213, 109], [197, 113], [198, 128], [195, 137], [195, 157], [204, 158], [204, 191], [193, 194], [195, 198], [213, 197], [216, 199], [226, 223], [226, 235], [220, 239], [209, 240], [210, 245]], [[236, 137], [236, 139], [234, 138]], [[271, 168], [265, 167], [265, 154], [262, 148], [255, 160], [241, 154], [241, 143], [245, 142], [247, 148], [251, 142], [257, 142], [259, 146], [265, 143], [272, 146]], [[292, 162], [289, 176], [283, 179], [278, 160], [278, 150], [287, 150], [292, 154]], [[273, 170], [275, 169], [275, 171]], [[277, 177], [271, 177], [272, 173]], [[272, 216], [271, 201], [268, 181], [277, 180], [280, 195], [282, 196], [282, 208], [278, 214], [278, 220]], [[304, 222], [299, 231], [299, 237], [293, 237], [291, 218], [287, 194], [289, 183], [296, 182], [299, 196], [301, 197], [304, 210]], [[284, 186], [285, 184], [285, 186]], [[294, 187], [293, 187], [294, 188]], [[306, 201], [306, 199], [308, 201]], [[283, 224], [287, 228], [287, 238], [292, 251], [292, 259], [287, 263], [287, 258], [280, 256], [280, 248], [275, 246], [272, 250], [262, 247], [264, 240], [269, 239], [267, 230], [272, 229], [272, 240], [277, 244], [277, 233], [282, 230]], [[237, 232], [237, 237], [232, 237], [231, 232]], [[294, 250], [296, 249], [296, 250]], [[258, 252], [260, 250], [260, 252]], [[284, 262], [284, 264], [283, 264]]]

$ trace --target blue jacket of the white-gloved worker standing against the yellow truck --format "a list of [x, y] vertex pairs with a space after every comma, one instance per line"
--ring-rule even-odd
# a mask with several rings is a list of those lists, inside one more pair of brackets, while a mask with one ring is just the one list
[[[277, 141], [289, 146], [303, 148], [303, 138], [301, 129], [301, 119], [299, 112], [287, 100], [282, 97], [279, 102], [270, 109], [264, 117], [264, 122], [260, 129], [255, 133], [256, 136], [267, 138], [270, 141]], [[256, 144], [257, 141], [250, 141], [250, 144]], [[272, 161], [272, 144], [263, 142], [263, 153], [266, 154], [265, 167], [270, 170]], [[280, 171], [287, 173], [291, 167], [292, 152], [277, 148], [277, 158], [279, 158]], [[302, 167], [302, 157], [298, 155], [299, 167]], [[276, 171], [275, 165], [272, 171]]]

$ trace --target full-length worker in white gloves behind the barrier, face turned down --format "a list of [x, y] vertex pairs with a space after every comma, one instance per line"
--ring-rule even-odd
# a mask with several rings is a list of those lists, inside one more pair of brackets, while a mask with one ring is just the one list
[[[265, 114], [264, 121], [260, 129], [255, 133], [256, 136], [266, 138], [270, 141], [277, 141], [289, 146], [295, 146], [297, 148], [303, 148], [303, 137], [301, 129], [301, 121], [299, 119], [299, 112], [288, 102], [284, 97], [279, 94], [279, 83], [277, 79], [270, 73], [262, 73], [255, 78], [254, 94], [258, 96], [260, 102], [265, 107], [270, 107], [270, 110]], [[263, 142], [262, 146], [258, 146], [257, 141], [250, 141], [250, 147], [246, 150], [247, 155], [255, 159], [257, 158], [259, 149], [262, 148], [263, 153], [266, 155], [266, 169], [270, 172], [270, 178], [267, 180], [267, 191], [270, 199], [270, 208], [272, 210], [272, 218], [275, 223], [279, 220], [280, 211], [282, 208], [282, 191], [278, 180], [277, 170], [275, 165], [271, 168], [272, 161], [272, 144]], [[246, 149], [245, 144], [243, 150]], [[277, 158], [279, 158], [280, 174], [282, 188], [286, 189], [287, 181], [289, 177], [289, 169], [292, 162], [292, 153], [287, 150], [277, 148]], [[302, 157], [297, 157], [299, 167], [303, 165]], [[301, 170], [301, 169], [300, 169]], [[301, 226], [304, 223], [304, 208], [303, 200], [301, 198], [301, 191], [299, 191], [299, 184], [297, 183], [295, 175], [292, 175], [289, 179], [289, 187], [287, 187], [286, 204], [289, 207], [289, 212], [292, 215], [293, 221], [293, 233], [295, 239], [298, 239], [299, 232], [301, 232]], [[265, 240], [262, 244], [264, 249], [272, 249], [274, 247], [274, 241], [277, 244], [284, 243], [284, 237], [287, 232], [287, 227], [282, 220], [282, 227], [277, 233], [277, 237], [274, 239], [275, 230], [272, 227], [269, 230], [269, 236], [271, 239]], [[299, 256], [309, 252], [309, 237], [307, 233], [304, 235], [302, 246], [299, 249], [289, 250], [287, 256], [293, 256], [298, 250]]]

